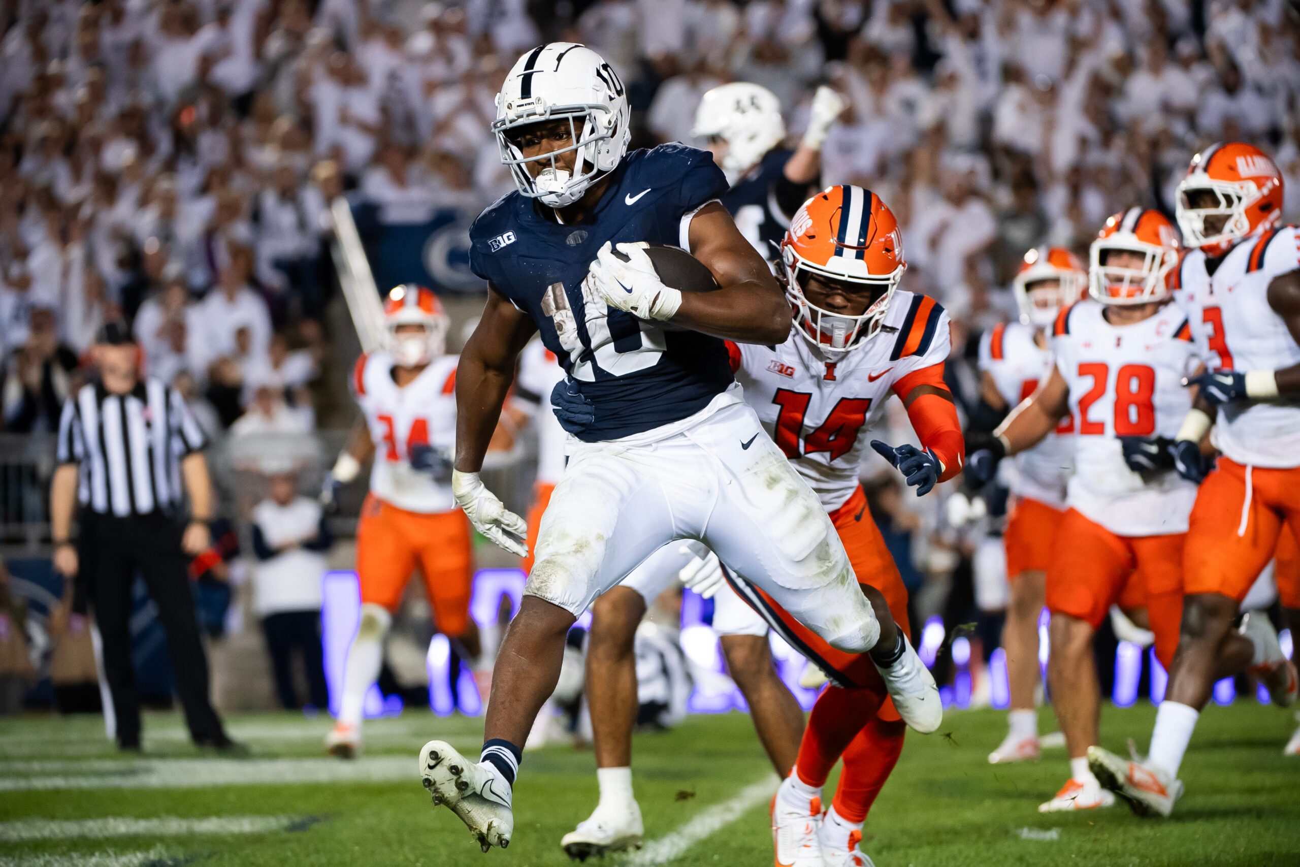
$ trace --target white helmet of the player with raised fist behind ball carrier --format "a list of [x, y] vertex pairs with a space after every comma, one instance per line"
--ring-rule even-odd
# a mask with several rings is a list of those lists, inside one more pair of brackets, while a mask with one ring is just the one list
[[699, 100], [690, 134], [727, 142], [722, 168], [736, 183], [785, 138], [781, 100], [762, 84], [720, 84]]

